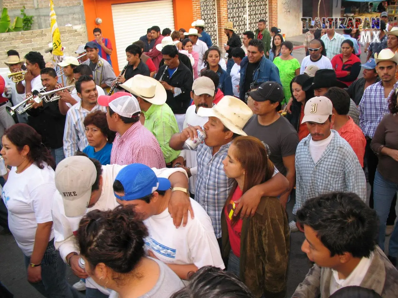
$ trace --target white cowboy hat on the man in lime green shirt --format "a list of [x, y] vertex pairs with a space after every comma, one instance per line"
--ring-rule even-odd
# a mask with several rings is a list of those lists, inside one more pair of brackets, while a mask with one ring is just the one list
[[164, 89], [159, 81], [152, 77], [137, 74], [123, 84], [120, 84], [119, 87], [152, 104], [161, 105], [166, 103], [166, 89]]

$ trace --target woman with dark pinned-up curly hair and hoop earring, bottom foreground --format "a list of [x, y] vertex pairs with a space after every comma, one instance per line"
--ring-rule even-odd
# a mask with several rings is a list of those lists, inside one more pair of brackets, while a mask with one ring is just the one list
[[113, 290], [109, 298], [170, 297], [184, 284], [165, 263], [146, 256], [148, 230], [130, 207], [93, 210], [80, 221], [76, 240], [87, 274]]

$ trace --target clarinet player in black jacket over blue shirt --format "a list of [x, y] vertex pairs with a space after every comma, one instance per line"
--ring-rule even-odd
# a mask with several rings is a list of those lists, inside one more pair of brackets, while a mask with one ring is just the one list
[[[162, 49], [164, 66], [159, 68], [155, 78], [160, 81], [167, 92], [166, 103], [172, 109], [181, 131], [185, 119], [185, 112], [191, 102], [193, 75], [178, 58], [176, 46], [167, 45]], [[168, 67], [167, 70], [166, 66]], [[164, 75], [163, 75], [164, 74]]]

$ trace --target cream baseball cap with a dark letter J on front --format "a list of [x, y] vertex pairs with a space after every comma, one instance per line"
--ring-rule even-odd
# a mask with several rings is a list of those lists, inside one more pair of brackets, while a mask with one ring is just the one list
[[304, 117], [301, 123], [316, 122], [325, 123], [329, 116], [333, 114], [333, 104], [327, 97], [316, 96], [306, 102], [304, 107]]

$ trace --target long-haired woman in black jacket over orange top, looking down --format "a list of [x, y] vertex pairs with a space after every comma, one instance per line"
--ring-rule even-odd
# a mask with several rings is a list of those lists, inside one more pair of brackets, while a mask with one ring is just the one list
[[304, 106], [308, 99], [314, 97], [314, 90], [309, 88], [304, 91], [303, 85], [310, 83], [312, 79], [306, 75], [297, 75], [290, 82], [290, 92], [292, 94], [292, 105], [290, 107], [291, 113], [286, 114], [286, 119], [293, 125], [298, 134], [298, 139], [301, 141], [310, 132], [305, 123], [301, 124], [304, 117]]

